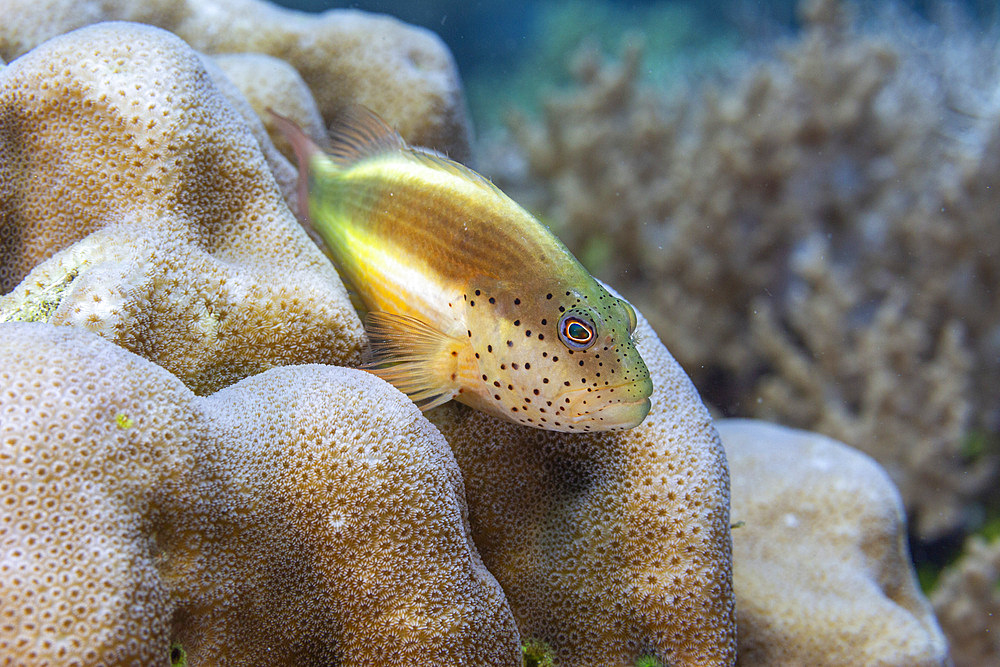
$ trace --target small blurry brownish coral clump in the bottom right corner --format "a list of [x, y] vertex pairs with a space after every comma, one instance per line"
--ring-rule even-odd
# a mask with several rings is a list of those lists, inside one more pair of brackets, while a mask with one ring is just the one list
[[931, 594], [956, 667], [1000, 660], [1000, 539], [973, 537]]

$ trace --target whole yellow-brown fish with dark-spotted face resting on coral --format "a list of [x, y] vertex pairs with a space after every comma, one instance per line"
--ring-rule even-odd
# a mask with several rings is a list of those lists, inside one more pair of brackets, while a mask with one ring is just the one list
[[326, 150], [269, 111], [298, 161], [300, 216], [360, 302], [365, 370], [422, 410], [454, 399], [563, 432], [646, 418], [635, 311], [527, 210], [365, 107], [341, 113]]

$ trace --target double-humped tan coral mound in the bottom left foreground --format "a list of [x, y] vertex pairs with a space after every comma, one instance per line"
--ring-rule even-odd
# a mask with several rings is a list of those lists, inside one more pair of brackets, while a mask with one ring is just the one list
[[441, 435], [389, 385], [206, 398], [98, 336], [0, 325], [5, 664], [520, 665]]

